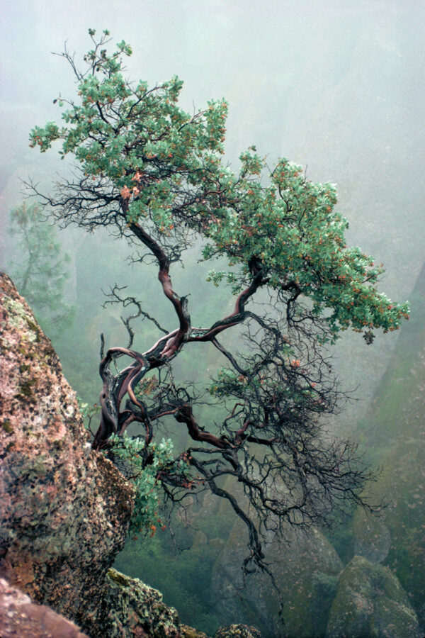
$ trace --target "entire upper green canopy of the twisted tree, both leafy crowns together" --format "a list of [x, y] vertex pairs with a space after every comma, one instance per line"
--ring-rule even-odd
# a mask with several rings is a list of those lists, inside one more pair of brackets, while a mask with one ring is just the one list
[[[94, 40], [95, 30], [89, 33]], [[237, 267], [209, 276], [216, 285], [225, 278], [234, 293], [255, 257], [271, 289], [298, 286], [310, 300], [314, 316], [327, 325], [322, 340], [333, 342], [349, 327], [397, 330], [409, 306], [378, 293], [382, 265], [347, 247], [348, 223], [334, 210], [334, 185], [307, 181], [301, 167], [284, 158], [270, 171], [255, 147], [242, 153], [235, 174], [221, 158], [227, 103], [210, 101], [191, 116], [177, 105], [178, 77], [152, 89], [130, 84], [121, 56], [131, 48], [121, 42], [108, 54], [107, 35], [94, 40], [86, 72], [77, 72], [79, 103], [67, 102], [65, 125], [49, 122], [30, 134], [30, 145], [42, 152], [62, 140], [60, 153], [74, 154], [84, 189], [108, 203], [102, 211], [89, 206], [84, 224], [119, 225], [116, 203], [128, 225], [150, 223], [164, 239], [184, 225], [207, 240], [205, 259], [223, 256]]]

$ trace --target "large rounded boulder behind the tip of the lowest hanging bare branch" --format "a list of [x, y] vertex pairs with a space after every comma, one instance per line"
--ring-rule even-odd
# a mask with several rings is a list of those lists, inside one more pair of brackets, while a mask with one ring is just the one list
[[279, 600], [265, 573], [242, 583], [241, 564], [246, 555], [244, 524], [235, 523], [217, 558], [212, 575], [212, 599], [220, 622], [232, 619], [261, 629], [263, 636], [312, 638], [324, 636], [338, 575], [343, 565], [329, 541], [318, 530], [310, 534], [288, 528], [286, 542], [266, 544], [266, 562], [283, 597], [284, 624]]

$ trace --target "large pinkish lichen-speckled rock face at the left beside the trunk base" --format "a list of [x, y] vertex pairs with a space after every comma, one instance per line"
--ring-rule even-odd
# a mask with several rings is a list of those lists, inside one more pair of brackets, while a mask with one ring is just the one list
[[0, 572], [93, 626], [132, 487], [91, 450], [75, 394], [26, 301], [0, 274]]

